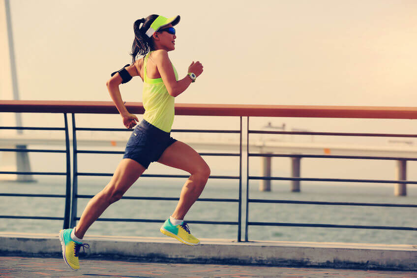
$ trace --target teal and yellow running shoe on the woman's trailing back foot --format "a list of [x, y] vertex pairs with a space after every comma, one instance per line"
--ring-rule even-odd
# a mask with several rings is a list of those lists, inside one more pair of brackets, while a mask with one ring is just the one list
[[78, 253], [80, 248], [89, 248], [88, 244], [82, 242], [73, 241], [71, 239], [72, 229], [60, 230], [60, 242], [62, 246], [62, 256], [64, 257], [65, 263], [73, 270], [78, 270], [80, 264], [78, 262]]

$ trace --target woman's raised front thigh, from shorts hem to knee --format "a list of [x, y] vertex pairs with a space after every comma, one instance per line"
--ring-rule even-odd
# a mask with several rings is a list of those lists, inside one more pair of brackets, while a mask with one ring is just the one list
[[158, 159], [159, 163], [187, 171], [190, 174], [209, 171], [206, 161], [187, 144], [176, 141]]

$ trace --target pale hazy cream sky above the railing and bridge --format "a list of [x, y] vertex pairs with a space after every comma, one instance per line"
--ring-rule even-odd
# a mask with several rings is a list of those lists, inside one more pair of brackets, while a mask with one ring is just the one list
[[[179, 76], [192, 61], [204, 65], [177, 103], [417, 103], [415, 0], [10, 0], [10, 9], [20, 99], [110, 101], [105, 84], [131, 61], [134, 21], [160, 14], [181, 16], [169, 53]], [[141, 102], [142, 86], [140, 78], [121, 85], [123, 100]], [[293, 122], [369, 131], [389, 121]], [[393, 123], [391, 131], [417, 129], [415, 121]]]

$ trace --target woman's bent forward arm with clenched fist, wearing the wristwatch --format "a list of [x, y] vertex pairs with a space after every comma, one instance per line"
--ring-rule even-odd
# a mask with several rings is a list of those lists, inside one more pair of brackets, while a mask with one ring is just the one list
[[[172, 68], [166, 50], [156, 50], [154, 52], [153, 61], [156, 63], [162, 81], [170, 95], [177, 96], [190, 86], [192, 81], [188, 75], [178, 81], [175, 79], [174, 69]], [[203, 65], [200, 62], [192, 62], [188, 67], [188, 72], [193, 72], [195, 75], [199, 76], [203, 72]]]

